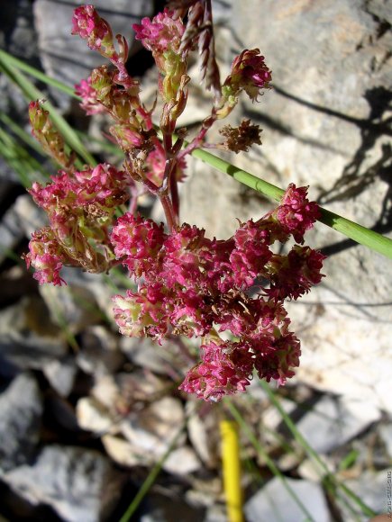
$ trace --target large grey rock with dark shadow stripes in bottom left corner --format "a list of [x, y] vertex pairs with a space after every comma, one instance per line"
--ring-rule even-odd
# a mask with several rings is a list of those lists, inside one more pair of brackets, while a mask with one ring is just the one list
[[49, 505], [68, 522], [98, 522], [119, 495], [121, 475], [96, 451], [47, 446], [32, 466], [6, 474], [6, 482], [32, 505]]

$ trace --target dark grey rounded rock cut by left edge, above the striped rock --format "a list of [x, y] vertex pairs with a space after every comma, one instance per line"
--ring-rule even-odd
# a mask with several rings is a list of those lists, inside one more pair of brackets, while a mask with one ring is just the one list
[[43, 410], [30, 374], [20, 374], [0, 395], [0, 474], [27, 463], [36, 451]]

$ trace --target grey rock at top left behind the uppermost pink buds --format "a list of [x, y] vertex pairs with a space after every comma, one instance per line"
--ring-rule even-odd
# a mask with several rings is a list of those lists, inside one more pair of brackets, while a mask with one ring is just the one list
[[[94, 67], [105, 62], [100, 54], [88, 49], [85, 40], [71, 35], [73, 11], [79, 4], [78, 0], [36, 0], [34, 3], [42, 65], [48, 75], [69, 86], [78, 84], [90, 75]], [[115, 0], [110, 5], [105, 0], [98, 0], [95, 6], [98, 13], [112, 25], [114, 35], [121, 33], [130, 41], [132, 51], [132, 24], [139, 23], [142, 16], [150, 15], [151, 0]], [[53, 94], [64, 103], [59, 93], [53, 90]]]

